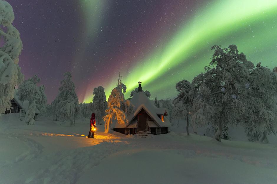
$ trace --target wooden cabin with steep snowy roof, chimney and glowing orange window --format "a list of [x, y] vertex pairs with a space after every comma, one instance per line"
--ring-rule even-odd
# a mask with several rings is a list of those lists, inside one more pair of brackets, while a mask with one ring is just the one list
[[128, 124], [115, 123], [113, 130], [123, 134], [151, 133], [166, 134], [171, 126], [167, 116], [166, 108], [157, 108], [144, 94], [139, 82], [139, 91], [130, 99], [135, 106], [134, 113], [128, 116]]

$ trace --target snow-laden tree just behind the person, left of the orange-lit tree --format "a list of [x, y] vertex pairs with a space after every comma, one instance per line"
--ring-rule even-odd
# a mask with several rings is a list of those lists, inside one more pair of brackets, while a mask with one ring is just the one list
[[98, 124], [103, 124], [103, 117], [107, 109], [107, 98], [102, 86], [93, 89], [93, 107], [95, 113], [95, 120]]

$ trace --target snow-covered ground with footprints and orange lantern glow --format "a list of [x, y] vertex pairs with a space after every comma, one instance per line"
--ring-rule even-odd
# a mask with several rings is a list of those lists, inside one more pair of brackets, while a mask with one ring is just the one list
[[219, 143], [172, 130], [143, 138], [98, 126], [90, 139], [88, 119], [27, 126], [18, 114], [2, 115], [0, 183], [277, 183], [276, 136]]

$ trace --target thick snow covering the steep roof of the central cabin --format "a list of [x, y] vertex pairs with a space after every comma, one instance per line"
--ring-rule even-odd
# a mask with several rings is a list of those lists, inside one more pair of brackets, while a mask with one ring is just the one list
[[164, 114], [166, 112], [166, 108], [157, 108], [154, 104], [151, 103], [148, 97], [143, 92], [135, 93], [133, 98], [130, 100], [131, 103], [135, 106], [135, 111], [133, 114], [128, 116], [129, 122], [133, 120], [133, 118], [144, 109], [146, 113], [155, 121], [158, 125], [154, 127], [170, 127], [171, 123], [164, 117], [164, 121], [161, 121], [157, 114]]

